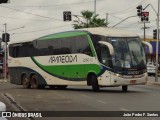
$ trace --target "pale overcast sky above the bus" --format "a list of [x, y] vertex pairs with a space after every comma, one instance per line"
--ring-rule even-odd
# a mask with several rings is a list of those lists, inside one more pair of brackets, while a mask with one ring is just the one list
[[[138, 5], [143, 8], [151, 4], [158, 11], [158, 0], [96, 0], [96, 13], [100, 18], [106, 18], [108, 27], [112, 27], [129, 16], [136, 16]], [[44, 35], [73, 30], [73, 20], [63, 21], [63, 11], [71, 11], [72, 15], [80, 15], [83, 10], [94, 11], [94, 0], [10, 0], [0, 4], [0, 34], [7, 24], [10, 41], [26, 41]], [[148, 11], [149, 23], [146, 23], [146, 36], [152, 37], [156, 29], [156, 13], [151, 6]], [[82, 18], [80, 18], [82, 19]], [[132, 17], [115, 28], [129, 30], [143, 36], [143, 23], [139, 17]]]

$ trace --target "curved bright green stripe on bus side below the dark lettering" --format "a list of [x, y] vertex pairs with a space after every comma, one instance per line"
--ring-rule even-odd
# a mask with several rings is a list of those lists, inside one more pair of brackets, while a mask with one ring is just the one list
[[97, 64], [44, 66], [38, 63], [33, 57], [32, 60], [43, 71], [57, 77], [59, 76], [64, 78], [87, 78], [87, 75], [90, 72], [93, 72], [96, 75], [101, 72], [101, 67]]

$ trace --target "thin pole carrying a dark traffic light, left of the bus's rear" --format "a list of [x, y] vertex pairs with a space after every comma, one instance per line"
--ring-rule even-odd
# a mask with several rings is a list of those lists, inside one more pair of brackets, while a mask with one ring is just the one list
[[[4, 33], [7, 33], [7, 23], [4, 24]], [[4, 48], [4, 79], [7, 79], [7, 36], [5, 35], [5, 48]]]

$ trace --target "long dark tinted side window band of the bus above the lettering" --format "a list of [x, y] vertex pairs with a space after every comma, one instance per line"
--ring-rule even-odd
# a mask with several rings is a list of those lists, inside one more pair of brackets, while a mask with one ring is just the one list
[[92, 55], [87, 36], [59, 38], [43, 41], [34, 40], [33, 42], [18, 44], [10, 45], [10, 56], [29, 57], [74, 53]]

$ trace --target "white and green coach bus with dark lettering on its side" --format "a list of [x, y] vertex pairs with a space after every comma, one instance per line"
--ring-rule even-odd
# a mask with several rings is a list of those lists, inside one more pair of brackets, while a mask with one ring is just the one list
[[64, 89], [146, 84], [145, 51], [137, 34], [87, 28], [9, 45], [10, 82], [24, 88]]

